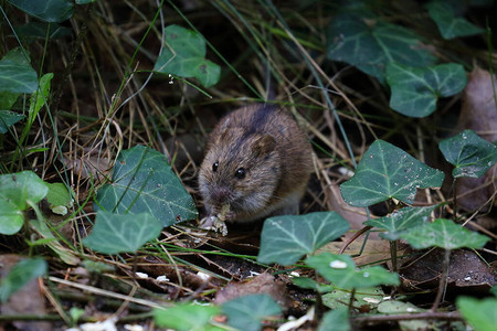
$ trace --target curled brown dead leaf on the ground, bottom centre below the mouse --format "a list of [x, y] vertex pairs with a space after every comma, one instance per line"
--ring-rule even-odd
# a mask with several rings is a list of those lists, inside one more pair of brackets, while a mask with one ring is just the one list
[[214, 302], [221, 305], [225, 301], [235, 298], [253, 295], [266, 293], [269, 295], [278, 305], [289, 307], [290, 300], [288, 298], [286, 287], [282, 281], [278, 281], [269, 274], [261, 274], [260, 276], [247, 281], [231, 281], [223, 289], [215, 295]]

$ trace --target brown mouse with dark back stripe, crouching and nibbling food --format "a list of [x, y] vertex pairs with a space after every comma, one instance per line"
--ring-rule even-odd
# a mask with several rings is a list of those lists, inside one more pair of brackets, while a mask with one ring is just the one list
[[224, 213], [223, 221], [296, 214], [311, 169], [310, 143], [287, 110], [247, 106], [223, 117], [210, 135], [200, 193], [208, 216]]

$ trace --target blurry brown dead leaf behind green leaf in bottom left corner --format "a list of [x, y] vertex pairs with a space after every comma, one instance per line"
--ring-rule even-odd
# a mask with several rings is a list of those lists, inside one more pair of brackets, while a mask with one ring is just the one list
[[[7, 276], [10, 269], [22, 258], [22, 256], [14, 254], [0, 255], [0, 277]], [[0, 306], [0, 312], [1, 314], [46, 314], [39, 279], [31, 280], [12, 293], [9, 300]], [[52, 323], [50, 322], [13, 321], [12, 324], [22, 331], [52, 330]]]

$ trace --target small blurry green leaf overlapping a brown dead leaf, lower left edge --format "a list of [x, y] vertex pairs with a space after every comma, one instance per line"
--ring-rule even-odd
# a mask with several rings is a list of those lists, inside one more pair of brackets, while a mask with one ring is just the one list
[[0, 301], [20, 290], [30, 280], [46, 274], [46, 261], [40, 257], [25, 258], [17, 263], [6, 277], [0, 279]]

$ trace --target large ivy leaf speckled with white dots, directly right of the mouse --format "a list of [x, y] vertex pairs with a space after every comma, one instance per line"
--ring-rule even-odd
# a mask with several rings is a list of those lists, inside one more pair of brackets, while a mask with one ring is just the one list
[[413, 203], [417, 188], [440, 188], [443, 180], [442, 171], [387, 141], [376, 140], [359, 162], [356, 174], [340, 190], [343, 200], [355, 206], [369, 206], [392, 197]]

